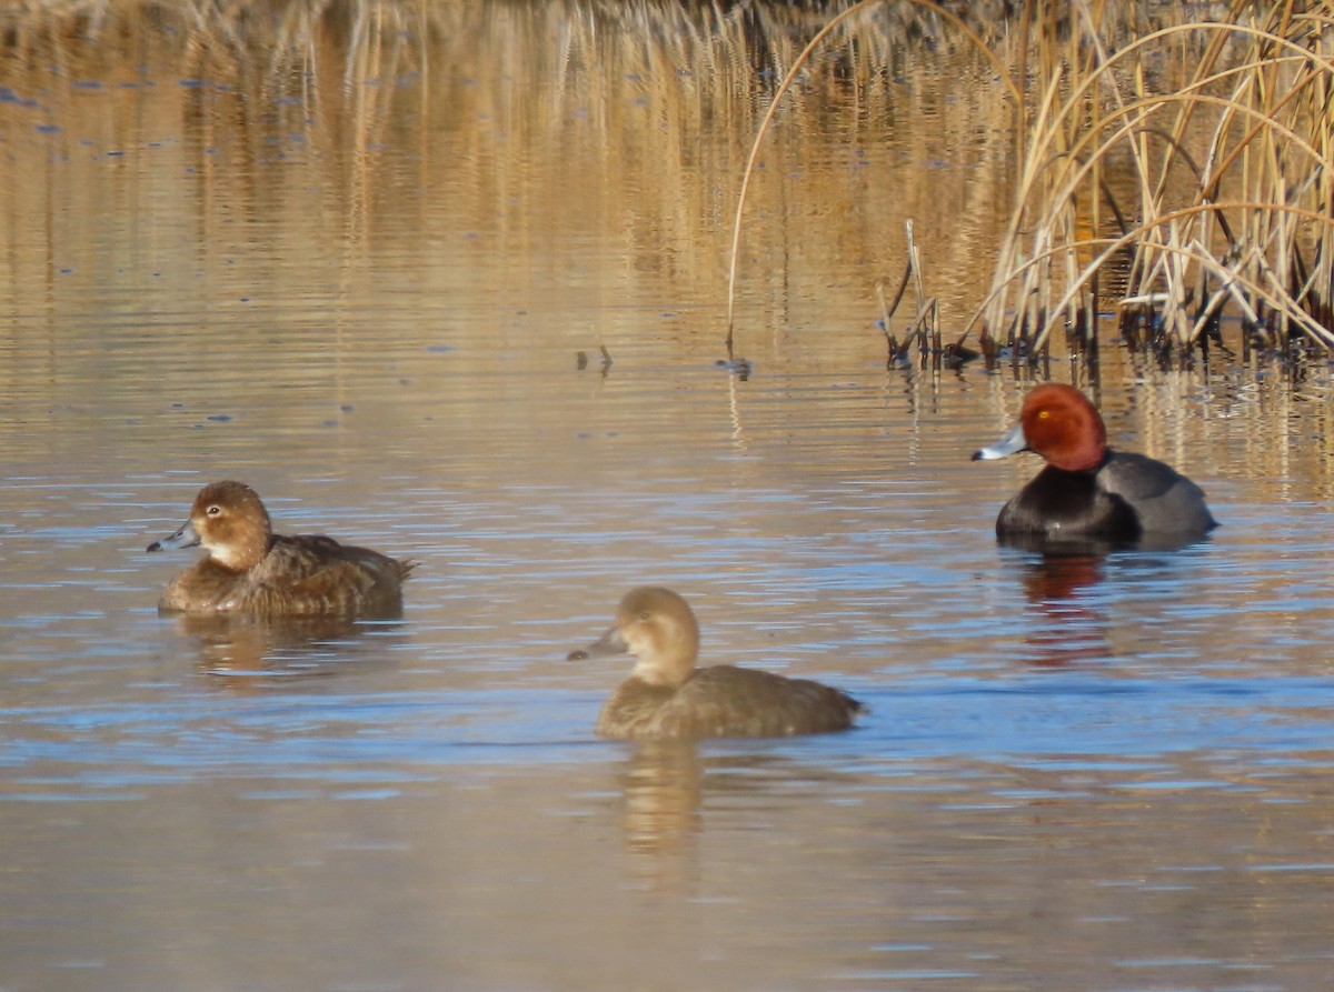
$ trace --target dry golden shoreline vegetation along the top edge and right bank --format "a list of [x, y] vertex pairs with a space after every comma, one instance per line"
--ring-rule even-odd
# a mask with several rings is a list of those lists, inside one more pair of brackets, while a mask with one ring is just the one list
[[[1211, 349], [1243, 360], [1334, 349], [1331, 4], [567, 5], [582, 27], [554, 40], [556, 57], [594, 64], [606, 44], [688, 49], [688, 64], [718, 68], [708, 85], [730, 88], [756, 117], [768, 109], [752, 165], [788, 125], [792, 88], [884, 88], [918, 53], [975, 59], [991, 80], [994, 125], [1010, 149], [1010, 175], [995, 184], [1009, 196], [995, 205], [1009, 219], [982, 245], [992, 261], [980, 303], [971, 315], [950, 313], [948, 333], [927, 293], [931, 263], [919, 261], [908, 233], [906, 268], [875, 287], [891, 364], [948, 361], [951, 349], [954, 357], [980, 352], [988, 365], [1023, 364], [1050, 356], [1054, 341], [1094, 369], [1099, 344], [1111, 340], [1163, 364], [1207, 360]], [[172, 32], [191, 49], [253, 72], [336, 72], [350, 87], [423, 71], [435, 43], [504, 8], [467, 0], [31, 0], [0, 11], [0, 51], [35, 60], [117, 39], [132, 48], [141, 32]], [[763, 219], [746, 209], [750, 176], [751, 168], [738, 177], [732, 200], [730, 356], [735, 283], [748, 264], [742, 245], [764, 236]], [[911, 221], [900, 219], [910, 232]], [[900, 341], [890, 320], [904, 297], [911, 329]]]

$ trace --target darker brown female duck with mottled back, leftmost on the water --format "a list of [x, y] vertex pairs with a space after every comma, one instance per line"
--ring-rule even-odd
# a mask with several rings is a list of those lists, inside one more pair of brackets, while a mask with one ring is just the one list
[[195, 545], [208, 557], [172, 580], [159, 609], [392, 617], [403, 612], [402, 583], [416, 564], [321, 535], [276, 535], [259, 495], [229, 481], [200, 489], [185, 525], [148, 551]]

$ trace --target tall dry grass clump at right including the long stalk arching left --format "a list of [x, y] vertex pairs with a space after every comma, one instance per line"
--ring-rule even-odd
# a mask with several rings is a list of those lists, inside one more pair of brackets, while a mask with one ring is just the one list
[[[956, 5], [911, 4], [978, 47], [1015, 96], [1015, 199], [966, 327], [990, 359], [1034, 357], [1065, 332], [1097, 361], [1109, 311], [1131, 348], [1163, 359], [1223, 344], [1225, 320], [1243, 352], [1334, 349], [1330, 4], [1234, 0], [1202, 19], [1199, 5], [1026, 0], [1009, 32], [976, 8], [968, 23]], [[775, 105], [824, 37], [872, 5], [823, 27]]]

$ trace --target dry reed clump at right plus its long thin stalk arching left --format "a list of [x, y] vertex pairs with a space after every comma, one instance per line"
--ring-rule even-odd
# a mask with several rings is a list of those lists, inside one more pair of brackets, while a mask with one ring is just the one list
[[[862, 0], [823, 25], [788, 68], [760, 121], [732, 224], [728, 356], [735, 343], [746, 199], [764, 136], [779, 101], [816, 48], [875, 3]], [[1217, 316], [1223, 305], [1241, 311], [1247, 325], [1258, 324], [1261, 311], [1269, 308], [1311, 341], [1334, 348], [1330, 320], [1314, 316], [1334, 317], [1334, 227], [1327, 211], [1318, 208], [1322, 196], [1326, 204], [1334, 197], [1334, 109], [1326, 109], [1334, 101], [1322, 99], [1334, 89], [1334, 59], [1322, 49], [1330, 17], [1293, 16], [1281, 5], [1263, 24], [1250, 24], [1242, 20], [1250, 7], [1237, 0], [1225, 20], [1169, 25], [1109, 51], [1102, 27], [1115, 5], [1077, 1], [1061, 8], [1069, 17], [1058, 24], [1057, 8], [1029, 0], [1014, 53], [1018, 71], [1010, 72], [999, 51], [955, 13], [932, 0], [915, 3], [958, 28], [983, 53], [1021, 111], [1017, 145], [1022, 153], [1011, 220], [998, 245], [991, 291], [964, 333], [982, 321], [986, 345], [1009, 320], [1010, 340], [1018, 335], [1030, 353], [1047, 347], [1062, 320], [1082, 321], [1094, 333], [1099, 271], [1130, 249], [1133, 283], [1126, 297], [1158, 307], [1159, 327], [1175, 328], [1179, 348], [1198, 340], [1205, 317]], [[1189, 83], [1171, 92], [1147, 92], [1146, 55], [1202, 39], [1209, 39], [1206, 52]], [[1237, 64], [1225, 65], [1223, 43], [1237, 39], [1245, 39], [1249, 49]], [[1026, 79], [1029, 67], [1038, 73], [1031, 105], [1017, 83]], [[1275, 85], [1282, 72], [1295, 72], [1297, 80]], [[1129, 96], [1122, 92], [1127, 85]], [[1226, 85], [1231, 85], [1230, 95], [1214, 92]], [[1155, 124], [1154, 117], [1165, 112], [1175, 112], [1171, 124]], [[1197, 152], [1194, 125], [1205, 112], [1214, 115], [1213, 133]], [[1238, 128], [1239, 135], [1234, 133]], [[1295, 181], [1285, 181], [1279, 148], [1289, 160], [1295, 155], [1302, 163], [1305, 175]], [[1122, 155], [1138, 191], [1137, 223], [1131, 227], [1126, 212], [1111, 203], [1122, 237], [1078, 236], [1085, 212], [1097, 227], [1105, 197], [1110, 203], [1105, 175], [1121, 171], [1114, 160]], [[1183, 208], [1179, 199], [1170, 203], [1174, 192], [1179, 196], [1181, 183], [1173, 180], [1179, 164], [1194, 180], [1185, 204], [1199, 209]], [[1233, 188], [1235, 193], [1223, 195]], [[1230, 223], [1231, 215], [1241, 223]], [[1314, 237], [1294, 223], [1298, 217], [1306, 219]], [[1081, 252], [1101, 244], [1107, 249], [1081, 264]], [[1254, 275], [1239, 272], [1238, 260]], [[1211, 289], [1210, 281], [1218, 287]], [[1185, 308], [1193, 304], [1198, 312], [1186, 319]]]

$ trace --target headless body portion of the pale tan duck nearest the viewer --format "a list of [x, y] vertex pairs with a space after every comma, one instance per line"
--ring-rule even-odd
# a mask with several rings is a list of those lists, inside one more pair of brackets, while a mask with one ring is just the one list
[[628, 679], [603, 707], [606, 737], [783, 737], [843, 731], [862, 712], [851, 696], [752, 668], [696, 669], [678, 689]]

